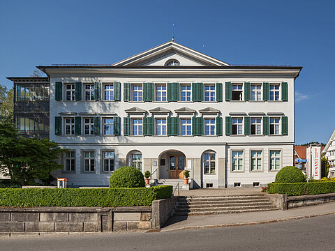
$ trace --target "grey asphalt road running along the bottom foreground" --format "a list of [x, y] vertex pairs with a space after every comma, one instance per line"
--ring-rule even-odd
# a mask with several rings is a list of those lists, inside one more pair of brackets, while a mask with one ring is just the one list
[[[224, 217], [224, 215], [223, 215]], [[335, 215], [159, 233], [0, 238], [0, 250], [335, 250]]]

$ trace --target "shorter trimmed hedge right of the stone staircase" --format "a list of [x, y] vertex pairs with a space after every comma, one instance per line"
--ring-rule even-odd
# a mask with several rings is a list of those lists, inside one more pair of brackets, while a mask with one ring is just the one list
[[304, 183], [269, 183], [267, 192], [288, 196], [320, 195], [335, 192], [334, 181], [304, 182]]

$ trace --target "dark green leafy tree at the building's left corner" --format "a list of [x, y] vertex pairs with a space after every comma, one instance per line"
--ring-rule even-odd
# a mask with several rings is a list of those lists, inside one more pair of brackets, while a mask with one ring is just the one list
[[17, 134], [12, 123], [0, 123], [0, 172], [21, 185], [34, 185], [36, 181], [48, 184], [54, 178], [50, 172], [60, 169], [56, 160], [60, 149], [50, 139], [27, 139]]

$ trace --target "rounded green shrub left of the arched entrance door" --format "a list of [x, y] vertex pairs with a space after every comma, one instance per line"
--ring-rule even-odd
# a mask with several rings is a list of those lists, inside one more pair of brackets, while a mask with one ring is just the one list
[[144, 188], [144, 176], [134, 167], [121, 167], [110, 176], [110, 188]]

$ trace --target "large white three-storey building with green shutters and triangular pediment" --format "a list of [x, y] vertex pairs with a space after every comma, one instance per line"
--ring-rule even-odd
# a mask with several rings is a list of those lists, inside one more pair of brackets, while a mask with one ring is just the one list
[[301, 67], [230, 66], [171, 41], [110, 66], [38, 68], [68, 185], [107, 185], [132, 165], [153, 178], [189, 169], [194, 188], [260, 186], [293, 165]]

